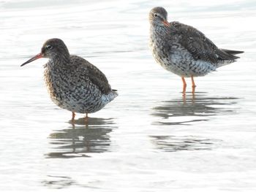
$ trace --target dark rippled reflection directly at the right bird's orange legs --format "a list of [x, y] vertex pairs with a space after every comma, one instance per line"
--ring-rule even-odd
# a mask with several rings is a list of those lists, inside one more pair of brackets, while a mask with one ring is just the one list
[[151, 115], [161, 119], [157, 125], [191, 125], [193, 122], [209, 120], [209, 116], [234, 112], [235, 97], [207, 96], [207, 93], [185, 94], [178, 99], [161, 101]]

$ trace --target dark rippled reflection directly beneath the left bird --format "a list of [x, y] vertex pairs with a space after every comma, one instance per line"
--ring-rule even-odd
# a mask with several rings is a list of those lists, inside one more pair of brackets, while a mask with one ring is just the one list
[[[53, 152], [47, 158], [90, 157], [90, 153], [103, 153], [109, 150], [108, 135], [115, 123], [113, 119], [89, 118], [90, 124], [84, 125], [84, 118], [69, 121], [70, 128], [54, 131], [50, 134]], [[82, 125], [82, 126], [80, 126]]]

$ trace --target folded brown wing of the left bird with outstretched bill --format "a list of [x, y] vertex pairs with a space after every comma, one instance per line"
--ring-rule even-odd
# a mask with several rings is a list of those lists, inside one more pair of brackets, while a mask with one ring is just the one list
[[71, 55], [70, 58], [72, 59], [70, 63], [77, 65], [76, 69], [81, 72], [83, 76], [89, 77], [89, 80], [99, 88], [99, 91], [104, 94], [110, 93], [111, 87], [107, 77], [96, 66], [76, 55]]

